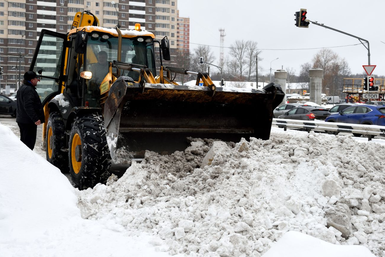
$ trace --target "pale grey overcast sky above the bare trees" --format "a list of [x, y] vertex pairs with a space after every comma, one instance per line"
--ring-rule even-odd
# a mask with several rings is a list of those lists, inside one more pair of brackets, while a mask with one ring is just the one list
[[260, 65], [266, 70], [260, 71], [259, 76], [269, 74], [270, 64], [272, 69], [283, 66], [298, 74], [301, 64], [311, 62], [316, 52], [328, 47], [346, 59], [353, 74], [364, 72], [362, 65], [368, 65], [368, 50], [360, 41], [315, 24], [296, 27], [294, 14], [300, 8], [307, 9], [307, 19], [313, 22], [368, 40], [370, 64], [377, 65], [373, 74], [385, 75], [384, 0], [178, 1], [179, 15], [190, 18], [191, 51], [198, 44], [211, 45], [216, 65], [220, 53], [218, 30], [224, 28], [225, 57], [229, 55], [226, 47], [237, 39], [258, 43], [263, 58]]

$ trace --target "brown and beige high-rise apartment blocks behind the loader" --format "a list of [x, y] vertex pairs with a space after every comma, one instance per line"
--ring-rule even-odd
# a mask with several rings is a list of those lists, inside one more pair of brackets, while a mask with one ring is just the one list
[[[0, 91], [5, 85], [17, 89], [23, 81], [42, 29], [67, 33], [75, 13], [84, 10], [94, 13], [103, 27], [119, 24], [121, 29], [133, 29], [140, 23], [158, 40], [167, 36], [171, 64], [177, 48], [189, 52], [189, 21], [185, 23], [189, 19], [178, 18], [177, 0], [0, 0]], [[183, 23], [183, 32], [178, 23]]]

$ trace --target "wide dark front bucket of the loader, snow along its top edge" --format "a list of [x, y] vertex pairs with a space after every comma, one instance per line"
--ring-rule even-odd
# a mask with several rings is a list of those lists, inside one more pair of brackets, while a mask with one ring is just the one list
[[[116, 163], [184, 151], [187, 137], [238, 142], [269, 139], [273, 109], [285, 94], [273, 83], [264, 89], [139, 84], [120, 77], [105, 101], [104, 120]], [[124, 162], [123, 162], [124, 163]]]

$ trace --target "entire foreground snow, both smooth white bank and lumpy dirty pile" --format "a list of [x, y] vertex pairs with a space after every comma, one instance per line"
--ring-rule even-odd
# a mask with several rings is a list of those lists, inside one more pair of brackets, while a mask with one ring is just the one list
[[383, 139], [195, 139], [79, 191], [12, 131], [0, 124], [2, 257], [385, 255]]

